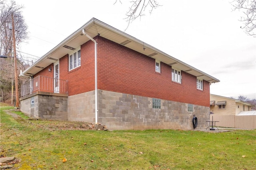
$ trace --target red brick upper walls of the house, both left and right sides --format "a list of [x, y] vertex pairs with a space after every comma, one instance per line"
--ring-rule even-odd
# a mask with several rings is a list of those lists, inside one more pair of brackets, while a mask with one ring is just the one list
[[[172, 82], [171, 66], [161, 63], [161, 73], [157, 73], [154, 59], [102, 37], [94, 39], [98, 43], [98, 89], [209, 106], [209, 82], [204, 81], [203, 91], [197, 90], [196, 77], [183, 71], [182, 84]], [[47, 67], [35, 76], [39, 74], [52, 77], [53, 70], [48, 72]], [[68, 71], [68, 55], [60, 59], [60, 79], [68, 80], [69, 96], [95, 90], [94, 42], [81, 46], [80, 67]]]

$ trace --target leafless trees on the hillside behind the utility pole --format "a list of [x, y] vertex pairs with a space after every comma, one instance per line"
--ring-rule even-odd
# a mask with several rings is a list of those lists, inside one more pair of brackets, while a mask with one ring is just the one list
[[[22, 8], [23, 6], [17, 5], [15, 1], [11, 0], [7, 2], [6, 0], [0, 0], [0, 55], [8, 57], [1, 58], [0, 60], [0, 92], [2, 99], [7, 102], [11, 101], [12, 80], [14, 75], [14, 63], [12, 59], [12, 14], [14, 16], [14, 36], [16, 45], [18, 46], [23, 42], [28, 35], [28, 26], [23, 19], [21, 12]], [[21, 57], [18, 58], [17, 61], [17, 69], [23, 69], [24, 64]], [[19, 85], [24, 81], [24, 78], [18, 77]]]

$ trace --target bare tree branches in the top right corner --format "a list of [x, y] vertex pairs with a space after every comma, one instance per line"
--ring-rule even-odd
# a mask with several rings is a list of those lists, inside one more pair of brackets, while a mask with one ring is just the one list
[[247, 35], [256, 36], [254, 32], [256, 28], [256, 0], [233, 0], [233, 10], [239, 10], [244, 13], [244, 16], [240, 18], [240, 21], [244, 23], [241, 28]]

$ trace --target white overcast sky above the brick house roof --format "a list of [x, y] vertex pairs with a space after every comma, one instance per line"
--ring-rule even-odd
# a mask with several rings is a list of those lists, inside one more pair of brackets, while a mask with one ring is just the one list
[[[25, 7], [29, 31], [18, 50], [42, 57], [91, 18], [124, 31], [130, 0], [120, 1], [16, 0]], [[219, 79], [211, 94], [256, 98], [256, 38], [240, 28], [242, 12], [232, 12], [226, 0], [158, 2], [161, 7], [146, 11], [125, 33]]]

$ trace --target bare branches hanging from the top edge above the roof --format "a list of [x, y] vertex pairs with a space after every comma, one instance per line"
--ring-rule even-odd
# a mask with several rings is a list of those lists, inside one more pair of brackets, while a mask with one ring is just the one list
[[[119, 2], [122, 4], [121, 0], [119, 0]], [[155, 8], [161, 6], [156, 0], [132, 0], [130, 3], [131, 6], [129, 7], [129, 11], [126, 13], [127, 17], [125, 18], [128, 22], [128, 26], [136, 18], [144, 16], [146, 9], [149, 9], [148, 12], [151, 14]]]

